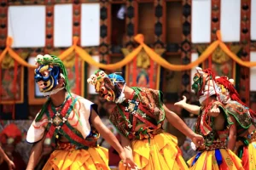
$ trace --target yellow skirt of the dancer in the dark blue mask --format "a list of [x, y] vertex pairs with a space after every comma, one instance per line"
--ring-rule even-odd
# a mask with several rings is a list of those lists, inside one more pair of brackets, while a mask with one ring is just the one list
[[109, 170], [108, 150], [102, 147], [89, 150], [55, 150], [43, 170]]

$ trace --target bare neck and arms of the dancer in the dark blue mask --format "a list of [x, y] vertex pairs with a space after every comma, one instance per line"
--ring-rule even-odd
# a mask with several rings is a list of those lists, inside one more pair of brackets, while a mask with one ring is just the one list
[[[60, 79], [59, 84], [55, 88], [61, 88], [64, 85], [64, 80]], [[64, 100], [66, 99], [67, 92], [66, 90], [61, 90], [57, 94], [50, 95], [51, 101], [53, 105], [59, 106], [61, 105]], [[117, 152], [119, 152], [120, 158], [126, 163], [133, 164], [131, 161], [126, 161], [125, 156], [125, 150], [123, 147], [119, 144], [119, 140], [116, 139], [114, 134], [106, 127], [103, 123], [100, 117], [96, 114], [96, 111], [91, 110], [91, 116], [90, 116], [90, 122], [92, 123], [92, 126], [96, 128], [96, 130], [101, 133], [102, 137], [108, 141], [109, 144], [113, 146]], [[67, 141], [64, 137], [60, 139], [62, 142]], [[38, 157], [40, 157], [41, 153], [43, 152], [43, 146], [44, 146], [44, 139], [41, 139], [38, 143], [33, 144], [32, 150], [31, 150], [31, 156], [29, 158], [26, 170], [32, 170], [36, 165], [38, 164]]]

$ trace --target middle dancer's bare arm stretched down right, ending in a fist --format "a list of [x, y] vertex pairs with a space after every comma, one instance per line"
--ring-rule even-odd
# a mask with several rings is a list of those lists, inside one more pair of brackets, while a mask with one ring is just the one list
[[195, 134], [184, 122], [183, 120], [177, 116], [176, 113], [170, 111], [166, 108], [166, 105], [163, 105], [163, 108], [166, 112], [166, 119], [170, 122], [174, 127], [176, 127], [180, 132], [188, 136], [192, 141], [196, 144], [203, 144], [203, 137]]

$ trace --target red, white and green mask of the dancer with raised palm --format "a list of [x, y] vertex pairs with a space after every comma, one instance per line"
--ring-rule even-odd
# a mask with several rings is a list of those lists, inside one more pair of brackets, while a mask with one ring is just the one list
[[202, 103], [208, 97], [219, 94], [220, 90], [216, 82], [214, 81], [214, 75], [211, 70], [202, 71], [200, 67], [196, 67], [196, 73], [193, 77], [192, 89], [199, 98], [199, 102]]

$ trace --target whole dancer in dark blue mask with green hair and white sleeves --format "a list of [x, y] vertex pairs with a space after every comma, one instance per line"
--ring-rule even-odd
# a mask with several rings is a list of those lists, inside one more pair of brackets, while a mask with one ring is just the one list
[[99, 133], [126, 161], [118, 139], [97, 116], [97, 105], [71, 93], [61, 59], [49, 54], [38, 55], [36, 65], [35, 81], [48, 99], [27, 132], [26, 140], [33, 146], [26, 170], [38, 164], [47, 135], [55, 150], [44, 170], [109, 169], [108, 150], [97, 144]]

